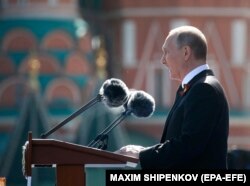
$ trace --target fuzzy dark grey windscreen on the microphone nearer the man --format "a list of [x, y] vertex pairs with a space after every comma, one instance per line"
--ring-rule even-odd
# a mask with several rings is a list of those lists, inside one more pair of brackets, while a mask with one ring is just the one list
[[150, 117], [155, 110], [155, 100], [142, 90], [131, 91], [127, 109], [136, 117]]

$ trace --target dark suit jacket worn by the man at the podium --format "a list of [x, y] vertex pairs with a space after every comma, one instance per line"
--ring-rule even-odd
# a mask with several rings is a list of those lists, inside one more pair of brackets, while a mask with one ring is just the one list
[[196, 75], [167, 117], [161, 142], [139, 154], [142, 169], [226, 169], [229, 108], [211, 70]]

